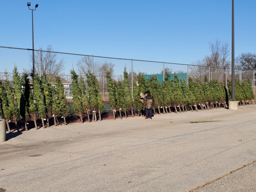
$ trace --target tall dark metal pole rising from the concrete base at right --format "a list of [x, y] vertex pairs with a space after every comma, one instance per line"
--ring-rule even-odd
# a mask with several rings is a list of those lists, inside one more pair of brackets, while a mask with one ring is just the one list
[[235, 45], [234, 45], [234, 0], [232, 0], [232, 56], [231, 56], [231, 70], [232, 70], [232, 101], [235, 100]]

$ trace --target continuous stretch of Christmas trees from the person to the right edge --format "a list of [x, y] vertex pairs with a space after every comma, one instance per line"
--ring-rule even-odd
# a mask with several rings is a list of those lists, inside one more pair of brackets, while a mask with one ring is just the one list
[[[204, 83], [199, 78], [188, 78], [188, 85], [183, 79], [178, 80], [178, 76], [174, 73], [174, 80], [170, 80], [170, 74], [166, 72], [165, 79], [160, 84], [156, 76], [151, 76], [149, 79], [145, 79], [143, 73], [138, 74], [138, 86], [134, 86], [134, 102], [138, 109], [138, 112], [143, 108], [143, 104], [140, 101], [140, 92], [150, 90], [151, 95], [155, 100], [155, 108], [158, 113], [171, 112], [171, 108], [177, 112], [177, 108], [181, 112], [187, 110], [189, 107], [200, 109], [211, 109], [220, 107], [221, 105], [227, 107], [226, 102], [231, 100], [231, 82], [228, 81], [228, 88], [225, 88], [218, 80], [209, 80], [205, 76]], [[240, 83], [239, 80], [235, 80], [235, 99], [239, 104], [249, 104], [251, 101], [254, 103], [254, 94], [249, 80], [245, 80]], [[182, 110], [181, 110], [182, 108]], [[153, 109], [154, 110], [154, 109]], [[155, 110], [154, 110], [155, 112]]]

